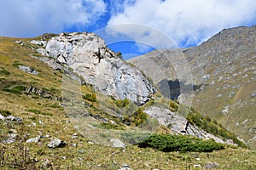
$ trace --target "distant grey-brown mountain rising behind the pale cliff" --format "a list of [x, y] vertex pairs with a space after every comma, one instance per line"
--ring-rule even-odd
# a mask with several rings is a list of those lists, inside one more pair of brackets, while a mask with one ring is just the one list
[[157, 65], [164, 74], [154, 82], [167, 97], [178, 99], [184, 81], [178, 77], [178, 59], [184, 59], [191, 71], [195, 110], [221, 122], [255, 149], [256, 26], [224, 29], [199, 46], [154, 51], [129, 62], [145, 74], [144, 65]]

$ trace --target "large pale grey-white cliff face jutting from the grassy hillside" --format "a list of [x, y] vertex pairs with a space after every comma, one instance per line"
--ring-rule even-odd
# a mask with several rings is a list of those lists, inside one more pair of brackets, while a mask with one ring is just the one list
[[143, 105], [155, 93], [153, 84], [137, 68], [125, 63], [93, 33], [61, 33], [42, 39], [32, 41], [42, 44], [39, 53], [67, 65], [103, 94]]

